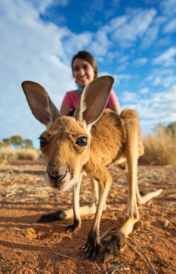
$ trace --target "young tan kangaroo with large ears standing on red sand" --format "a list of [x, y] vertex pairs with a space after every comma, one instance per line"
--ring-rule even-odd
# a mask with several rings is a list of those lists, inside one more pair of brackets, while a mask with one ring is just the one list
[[47, 130], [40, 135], [40, 149], [46, 159], [46, 181], [58, 191], [74, 188], [74, 224], [80, 227], [80, 173], [85, 170], [99, 184], [99, 200], [95, 218], [81, 248], [83, 260], [100, 252], [99, 223], [112, 177], [106, 167], [127, 162], [128, 199], [124, 225], [111, 237], [102, 253], [103, 262], [115, 260], [125, 248], [125, 238], [139, 220], [138, 204], [158, 196], [162, 189], [140, 196], [137, 184], [137, 160], [143, 155], [140, 125], [134, 110], [123, 110], [119, 116], [105, 110], [114, 78], [102, 76], [87, 84], [74, 116], [62, 116], [49, 98], [45, 88], [32, 81], [22, 83], [30, 109]]

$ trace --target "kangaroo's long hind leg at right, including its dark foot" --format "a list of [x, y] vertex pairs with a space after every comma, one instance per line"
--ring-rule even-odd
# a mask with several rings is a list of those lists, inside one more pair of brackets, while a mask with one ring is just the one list
[[[125, 239], [132, 231], [134, 224], [139, 220], [139, 212], [136, 200], [136, 176], [137, 176], [137, 132], [139, 123], [137, 119], [129, 119], [127, 121], [127, 139], [124, 144], [125, 155], [127, 158], [127, 181], [128, 181], [128, 198], [127, 206], [125, 209], [124, 224], [122, 227], [111, 237], [111, 240], [102, 253], [103, 262], [109, 260], [114, 261], [118, 258], [119, 254], [125, 249]], [[132, 129], [132, 130], [131, 130]]]

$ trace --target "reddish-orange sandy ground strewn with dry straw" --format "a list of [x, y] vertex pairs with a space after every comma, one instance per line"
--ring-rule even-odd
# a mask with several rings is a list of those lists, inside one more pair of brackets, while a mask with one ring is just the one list
[[[79, 247], [85, 244], [94, 215], [82, 216], [82, 226], [75, 233], [64, 232], [64, 227], [73, 223], [73, 218], [62, 221], [39, 223], [43, 214], [72, 207], [72, 193], [56, 194], [45, 185], [43, 161], [14, 161], [1, 164], [0, 173], [0, 273], [106, 273], [113, 263], [102, 264], [101, 254], [96, 257], [97, 269], [91, 259], [82, 260]], [[113, 183], [107, 197], [108, 208], [102, 213], [100, 235], [109, 228], [123, 224], [127, 202], [125, 172], [116, 166], [109, 169]], [[140, 192], [145, 194], [162, 187], [163, 193], [139, 206], [143, 228], [133, 230], [127, 241], [135, 246], [135, 239], [157, 273], [174, 273], [167, 264], [176, 269], [176, 167], [139, 166]], [[80, 205], [91, 201], [89, 177], [83, 177]], [[162, 222], [168, 219], [167, 228]], [[171, 225], [172, 224], [172, 225]], [[115, 232], [105, 236], [111, 237]], [[103, 247], [101, 247], [101, 252]], [[65, 259], [59, 253], [73, 258]], [[119, 256], [127, 273], [152, 273], [149, 266], [131, 248]], [[111, 272], [109, 272], [111, 273]], [[122, 272], [124, 273], [124, 271]]]

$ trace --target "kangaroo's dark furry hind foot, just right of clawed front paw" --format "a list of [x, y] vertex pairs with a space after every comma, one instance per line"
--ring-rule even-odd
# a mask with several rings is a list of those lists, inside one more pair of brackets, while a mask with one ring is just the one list
[[121, 251], [126, 247], [125, 244], [125, 235], [118, 231], [111, 237], [111, 240], [105, 250], [102, 253], [103, 263], [108, 261], [115, 261], [118, 258]]

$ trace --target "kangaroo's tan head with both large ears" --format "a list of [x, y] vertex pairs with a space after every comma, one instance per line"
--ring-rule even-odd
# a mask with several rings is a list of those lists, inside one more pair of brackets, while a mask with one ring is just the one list
[[103, 113], [113, 83], [111, 76], [102, 76], [87, 84], [73, 117], [62, 116], [40, 84], [22, 83], [33, 115], [46, 126], [39, 139], [47, 164], [46, 180], [52, 188], [66, 191], [77, 184], [89, 159], [90, 142], [94, 142], [91, 126]]

